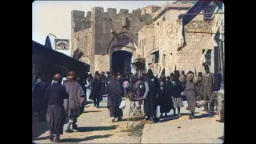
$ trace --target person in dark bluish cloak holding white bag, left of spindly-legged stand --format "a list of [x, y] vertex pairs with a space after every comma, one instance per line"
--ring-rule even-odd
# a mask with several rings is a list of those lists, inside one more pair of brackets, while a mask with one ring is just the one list
[[120, 103], [122, 102], [122, 85], [116, 77], [111, 77], [106, 91], [108, 94], [107, 107], [110, 110], [110, 118], [112, 122], [115, 122], [115, 118], [118, 118], [118, 121], [120, 121], [123, 116], [122, 109], [119, 109]]

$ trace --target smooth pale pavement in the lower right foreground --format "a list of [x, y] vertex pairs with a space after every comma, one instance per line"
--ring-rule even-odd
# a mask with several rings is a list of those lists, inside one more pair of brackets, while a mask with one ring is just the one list
[[[183, 103], [186, 107], [186, 102]], [[224, 124], [216, 122], [218, 116], [206, 114], [202, 109], [196, 109], [193, 120], [188, 119], [188, 111], [182, 108], [182, 118], [170, 117], [146, 124], [142, 143], [222, 143], [218, 137], [223, 134]]]

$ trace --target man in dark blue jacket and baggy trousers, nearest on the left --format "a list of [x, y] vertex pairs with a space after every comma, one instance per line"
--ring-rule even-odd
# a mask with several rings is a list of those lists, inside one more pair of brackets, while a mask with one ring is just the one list
[[[50, 141], [54, 142], [61, 142], [59, 137], [60, 134], [63, 134], [63, 126], [66, 118], [63, 100], [69, 98], [61, 82], [61, 75], [55, 74], [53, 84], [46, 90], [46, 98], [49, 99], [46, 119], [50, 129]], [[53, 134], [56, 134], [55, 139]]]

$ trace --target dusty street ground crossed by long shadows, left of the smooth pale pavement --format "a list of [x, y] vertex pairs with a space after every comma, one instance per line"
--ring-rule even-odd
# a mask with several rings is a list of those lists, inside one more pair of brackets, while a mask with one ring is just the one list
[[[127, 102], [126, 102], [127, 103]], [[127, 119], [121, 122], [111, 122], [109, 110], [106, 109], [106, 102], [102, 102], [100, 108], [94, 108], [91, 104], [86, 107], [84, 114], [78, 118], [78, 131], [61, 136], [63, 142], [72, 143], [140, 143], [143, 126], [131, 128], [133, 122], [126, 128]], [[124, 115], [128, 115], [128, 105]], [[139, 121], [135, 122], [137, 125]], [[66, 126], [64, 126], [64, 129]], [[37, 143], [50, 143], [47, 139], [49, 131], [35, 139]]]

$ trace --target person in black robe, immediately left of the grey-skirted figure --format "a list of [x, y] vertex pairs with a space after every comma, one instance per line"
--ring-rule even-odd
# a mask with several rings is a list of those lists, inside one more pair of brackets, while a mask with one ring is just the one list
[[164, 117], [167, 118], [167, 113], [174, 108], [170, 98], [170, 86], [169, 84], [166, 84], [166, 80], [164, 78], [160, 82], [158, 105], [160, 106], [160, 118], [162, 118], [163, 114], [165, 114]]

